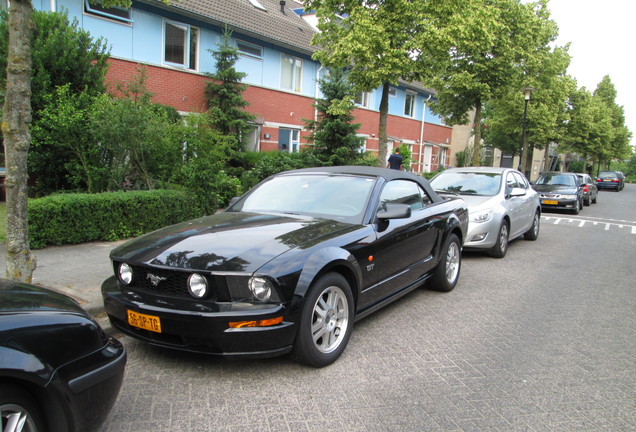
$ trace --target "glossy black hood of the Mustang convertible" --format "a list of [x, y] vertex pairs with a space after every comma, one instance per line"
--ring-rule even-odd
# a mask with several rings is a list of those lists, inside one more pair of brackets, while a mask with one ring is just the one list
[[129, 263], [253, 273], [294, 248], [307, 248], [359, 225], [301, 215], [219, 213], [172, 225], [111, 252]]

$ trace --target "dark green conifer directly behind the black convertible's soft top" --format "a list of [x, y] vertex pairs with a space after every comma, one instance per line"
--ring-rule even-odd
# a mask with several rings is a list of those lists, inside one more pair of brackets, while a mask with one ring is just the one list
[[341, 68], [320, 79], [319, 85], [323, 97], [314, 104], [317, 119], [306, 122], [312, 131], [308, 137], [313, 143], [312, 151], [329, 165], [353, 164], [360, 156], [358, 149], [362, 145], [356, 136], [360, 124], [351, 123], [353, 87]]

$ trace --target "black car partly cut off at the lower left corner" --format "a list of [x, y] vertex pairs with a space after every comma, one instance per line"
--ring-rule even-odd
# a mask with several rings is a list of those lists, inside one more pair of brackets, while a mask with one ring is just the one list
[[71, 298], [0, 279], [0, 430], [89, 432], [110, 412], [126, 352]]

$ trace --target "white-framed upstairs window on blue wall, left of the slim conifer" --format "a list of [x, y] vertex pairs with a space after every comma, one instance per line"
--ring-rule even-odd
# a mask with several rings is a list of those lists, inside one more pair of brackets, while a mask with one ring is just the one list
[[199, 29], [166, 21], [164, 24], [164, 61], [196, 70]]

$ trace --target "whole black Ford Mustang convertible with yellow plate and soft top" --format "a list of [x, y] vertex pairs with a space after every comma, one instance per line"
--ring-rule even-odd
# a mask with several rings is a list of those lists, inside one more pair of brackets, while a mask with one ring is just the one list
[[102, 285], [116, 328], [222, 356], [292, 352], [321, 367], [353, 322], [422, 285], [450, 291], [468, 213], [413, 174], [328, 167], [268, 178], [224, 213], [111, 253]]

